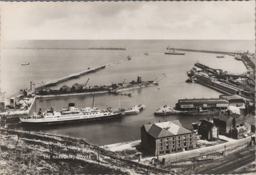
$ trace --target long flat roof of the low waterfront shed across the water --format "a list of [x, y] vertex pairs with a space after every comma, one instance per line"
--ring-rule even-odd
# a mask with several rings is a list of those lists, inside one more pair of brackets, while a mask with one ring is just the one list
[[224, 98], [194, 98], [194, 99], [180, 99], [179, 104], [228, 104], [228, 101]]

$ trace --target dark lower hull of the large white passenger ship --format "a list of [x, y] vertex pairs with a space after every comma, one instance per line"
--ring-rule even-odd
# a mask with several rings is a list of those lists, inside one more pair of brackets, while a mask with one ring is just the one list
[[91, 117], [91, 118], [86, 118], [86, 119], [75, 119], [75, 120], [64, 120], [64, 121], [43, 121], [43, 122], [21, 121], [21, 123], [22, 123], [22, 125], [60, 125], [63, 123], [78, 123], [78, 122], [116, 119], [118, 117], [121, 117], [121, 113], [116, 113], [113, 115], [108, 115], [108, 116], [103, 116], [103, 117]]

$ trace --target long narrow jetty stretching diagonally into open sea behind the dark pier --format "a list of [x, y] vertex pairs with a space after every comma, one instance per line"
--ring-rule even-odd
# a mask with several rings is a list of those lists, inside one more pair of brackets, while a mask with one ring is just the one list
[[37, 87], [35, 87], [36, 90], [41, 90], [43, 88], [47, 88], [47, 87], [52, 87], [55, 85], [58, 85], [58, 83], [62, 83], [64, 81], [68, 81], [70, 79], [76, 79], [78, 77], [81, 77], [82, 75], [88, 74], [88, 73], [94, 73], [96, 71], [99, 71], [101, 69], [105, 69], [105, 68], [110, 68], [111, 66], [116, 66], [117, 64], [121, 64], [122, 62], [127, 61], [128, 59], [123, 59], [123, 60], [119, 60], [117, 62], [113, 62], [113, 63], [109, 63], [109, 64], [104, 64], [102, 66], [98, 66], [96, 68], [92, 68], [92, 69], [86, 69], [85, 71], [81, 71], [79, 73], [72, 73], [66, 77], [62, 77], [60, 79], [56, 79], [54, 81], [48, 81], [47, 83], [43, 83], [43, 85], [39, 85]]

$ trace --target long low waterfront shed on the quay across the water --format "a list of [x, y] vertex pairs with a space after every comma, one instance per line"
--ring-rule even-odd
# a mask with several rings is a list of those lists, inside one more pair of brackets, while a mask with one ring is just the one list
[[223, 98], [194, 98], [181, 99], [176, 104], [176, 109], [187, 111], [192, 109], [227, 109], [228, 100]]

